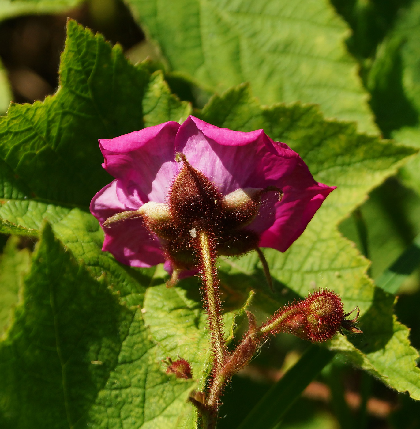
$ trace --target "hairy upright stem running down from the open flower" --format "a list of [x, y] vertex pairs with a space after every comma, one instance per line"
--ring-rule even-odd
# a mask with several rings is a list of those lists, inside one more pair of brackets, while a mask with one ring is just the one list
[[[207, 312], [207, 325], [210, 331], [210, 345], [213, 353], [213, 380], [217, 383], [225, 363], [226, 342], [222, 330], [222, 302], [219, 293], [219, 278], [216, 269], [216, 249], [211, 237], [205, 232], [197, 233], [197, 251], [200, 258], [201, 278], [203, 281], [204, 308]], [[210, 387], [211, 391], [211, 387]], [[207, 403], [217, 409], [218, 397], [210, 395]]]

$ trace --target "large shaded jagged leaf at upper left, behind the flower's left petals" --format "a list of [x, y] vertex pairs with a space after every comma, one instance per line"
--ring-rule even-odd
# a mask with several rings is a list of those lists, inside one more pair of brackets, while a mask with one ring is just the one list
[[[111, 181], [98, 138], [186, 118], [190, 107], [169, 94], [161, 72], [133, 66], [119, 45], [74, 21], [67, 25], [60, 87], [44, 102], [12, 105], [0, 120], [3, 189], [55, 205], [88, 206]], [[10, 196], [4, 196], [10, 198]]]

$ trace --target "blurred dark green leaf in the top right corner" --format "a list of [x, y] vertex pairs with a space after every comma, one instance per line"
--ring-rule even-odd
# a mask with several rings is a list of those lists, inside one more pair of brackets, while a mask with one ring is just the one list
[[[385, 135], [420, 147], [420, 1], [400, 13], [395, 27], [378, 47], [367, 86], [372, 108]], [[420, 193], [420, 157], [402, 170], [407, 186]]]

